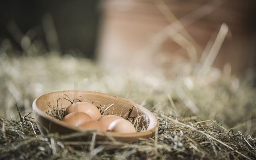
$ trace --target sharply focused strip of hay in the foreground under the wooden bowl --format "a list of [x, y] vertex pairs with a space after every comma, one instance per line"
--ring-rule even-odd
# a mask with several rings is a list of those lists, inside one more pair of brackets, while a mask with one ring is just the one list
[[[65, 142], [58, 134], [41, 135], [31, 118], [19, 122], [1, 118], [0, 159], [255, 159], [256, 139], [226, 131], [215, 121], [197, 122], [154, 110], [160, 122], [156, 136], [120, 143], [104, 150], [102, 142]], [[67, 138], [67, 137], [66, 137]], [[83, 149], [74, 148], [79, 144]], [[97, 145], [99, 144], [99, 145]]]

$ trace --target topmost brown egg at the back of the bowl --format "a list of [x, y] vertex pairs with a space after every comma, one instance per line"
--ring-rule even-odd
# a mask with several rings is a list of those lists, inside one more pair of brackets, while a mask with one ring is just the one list
[[100, 110], [89, 102], [76, 102], [67, 107], [65, 114], [72, 112], [84, 112], [89, 114], [92, 120], [98, 120], [101, 117]]

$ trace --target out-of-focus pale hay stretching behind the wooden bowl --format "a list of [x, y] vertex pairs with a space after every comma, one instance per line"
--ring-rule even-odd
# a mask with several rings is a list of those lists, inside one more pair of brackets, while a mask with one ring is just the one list
[[[16, 118], [15, 104], [31, 111], [37, 96], [59, 90], [92, 90], [132, 100], [181, 117], [216, 120], [235, 132], [256, 135], [256, 90], [250, 74], [238, 79], [211, 68], [203, 82], [194, 72], [200, 64], [177, 60], [161, 70], [112, 73], [85, 58], [44, 54], [12, 57], [0, 50], [0, 116]], [[9, 55], [9, 56], [8, 56]], [[68, 65], [67, 65], [68, 64]], [[169, 78], [166, 75], [172, 74]], [[171, 101], [175, 106], [171, 105]]]

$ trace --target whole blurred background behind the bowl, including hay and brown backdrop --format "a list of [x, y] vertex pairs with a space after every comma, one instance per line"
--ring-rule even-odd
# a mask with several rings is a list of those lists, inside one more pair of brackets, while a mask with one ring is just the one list
[[254, 0], [1, 1], [0, 116], [93, 90], [255, 136], [255, 15]]

